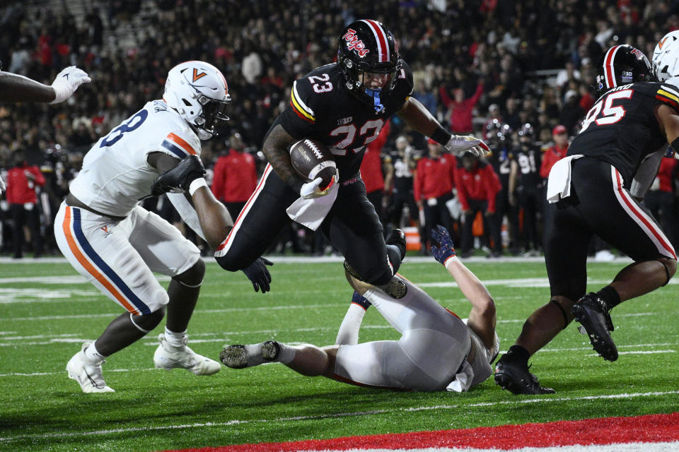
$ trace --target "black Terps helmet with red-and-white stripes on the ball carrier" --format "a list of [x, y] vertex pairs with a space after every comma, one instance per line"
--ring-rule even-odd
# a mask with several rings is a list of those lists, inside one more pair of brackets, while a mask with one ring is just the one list
[[[384, 100], [396, 85], [401, 69], [394, 35], [377, 20], [356, 20], [344, 28], [337, 49], [337, 64], [344, 74], [344, 84], [349, 92], [361, 101], [375, 107], [375, 113], [384, 112]], [[387, 76], [381, 88], [371, 89], [365, 83], [368, 74]]]

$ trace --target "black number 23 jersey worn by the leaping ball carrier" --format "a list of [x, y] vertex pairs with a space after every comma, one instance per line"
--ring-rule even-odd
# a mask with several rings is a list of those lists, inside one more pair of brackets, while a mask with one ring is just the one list
[[327, 64], [298, 78], [289, 105], [274, 122], [294, 138], [311, 138], [332, 151], [345, 181], [359, 171], [366, 144], [377, 138], [382, 126], [403, 107], [412, 94], [412, 71], [402, 62], [396, 84], [385, 98], [384, 110], [357, 99], [344, 85], [342, 70]]

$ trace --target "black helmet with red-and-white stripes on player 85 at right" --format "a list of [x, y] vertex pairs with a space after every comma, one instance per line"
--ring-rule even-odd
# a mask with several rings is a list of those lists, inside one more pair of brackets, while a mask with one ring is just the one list
[[628, 44], [615, 45], [603, 54], [596, 66], [598, 95], [628, 83], [655, 81], [653, 67], [644, 52]]

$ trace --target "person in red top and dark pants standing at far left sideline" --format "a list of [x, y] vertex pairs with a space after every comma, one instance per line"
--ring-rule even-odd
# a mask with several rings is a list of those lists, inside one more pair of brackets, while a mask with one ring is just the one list
[[37, 207], [35, 187], [45, 185], [40, 168], [28, 165], [22, 152], [15, 155], [14, 165], [7, 172], [7, 202], [12, 218], [13, 258], [23, 257], [24, 227], [30, 230], [33, 256], [42, 256], [40, 213]]

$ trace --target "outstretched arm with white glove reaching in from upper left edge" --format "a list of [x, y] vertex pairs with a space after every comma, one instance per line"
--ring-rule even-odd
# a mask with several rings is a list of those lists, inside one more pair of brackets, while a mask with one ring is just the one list
[[[2, 63], [0, 63], [0, 69], [2, 69]], [[58, 104], [71, 97], [80, 85], [90, 81], [87, 74], [76, 66], [69, 66], [59, 72], [52, 85], [43, 85], [16, 73], [0, 71], [0, 102]], [[5, 183], [0, 177], [0, 194], [4, 190]]]

